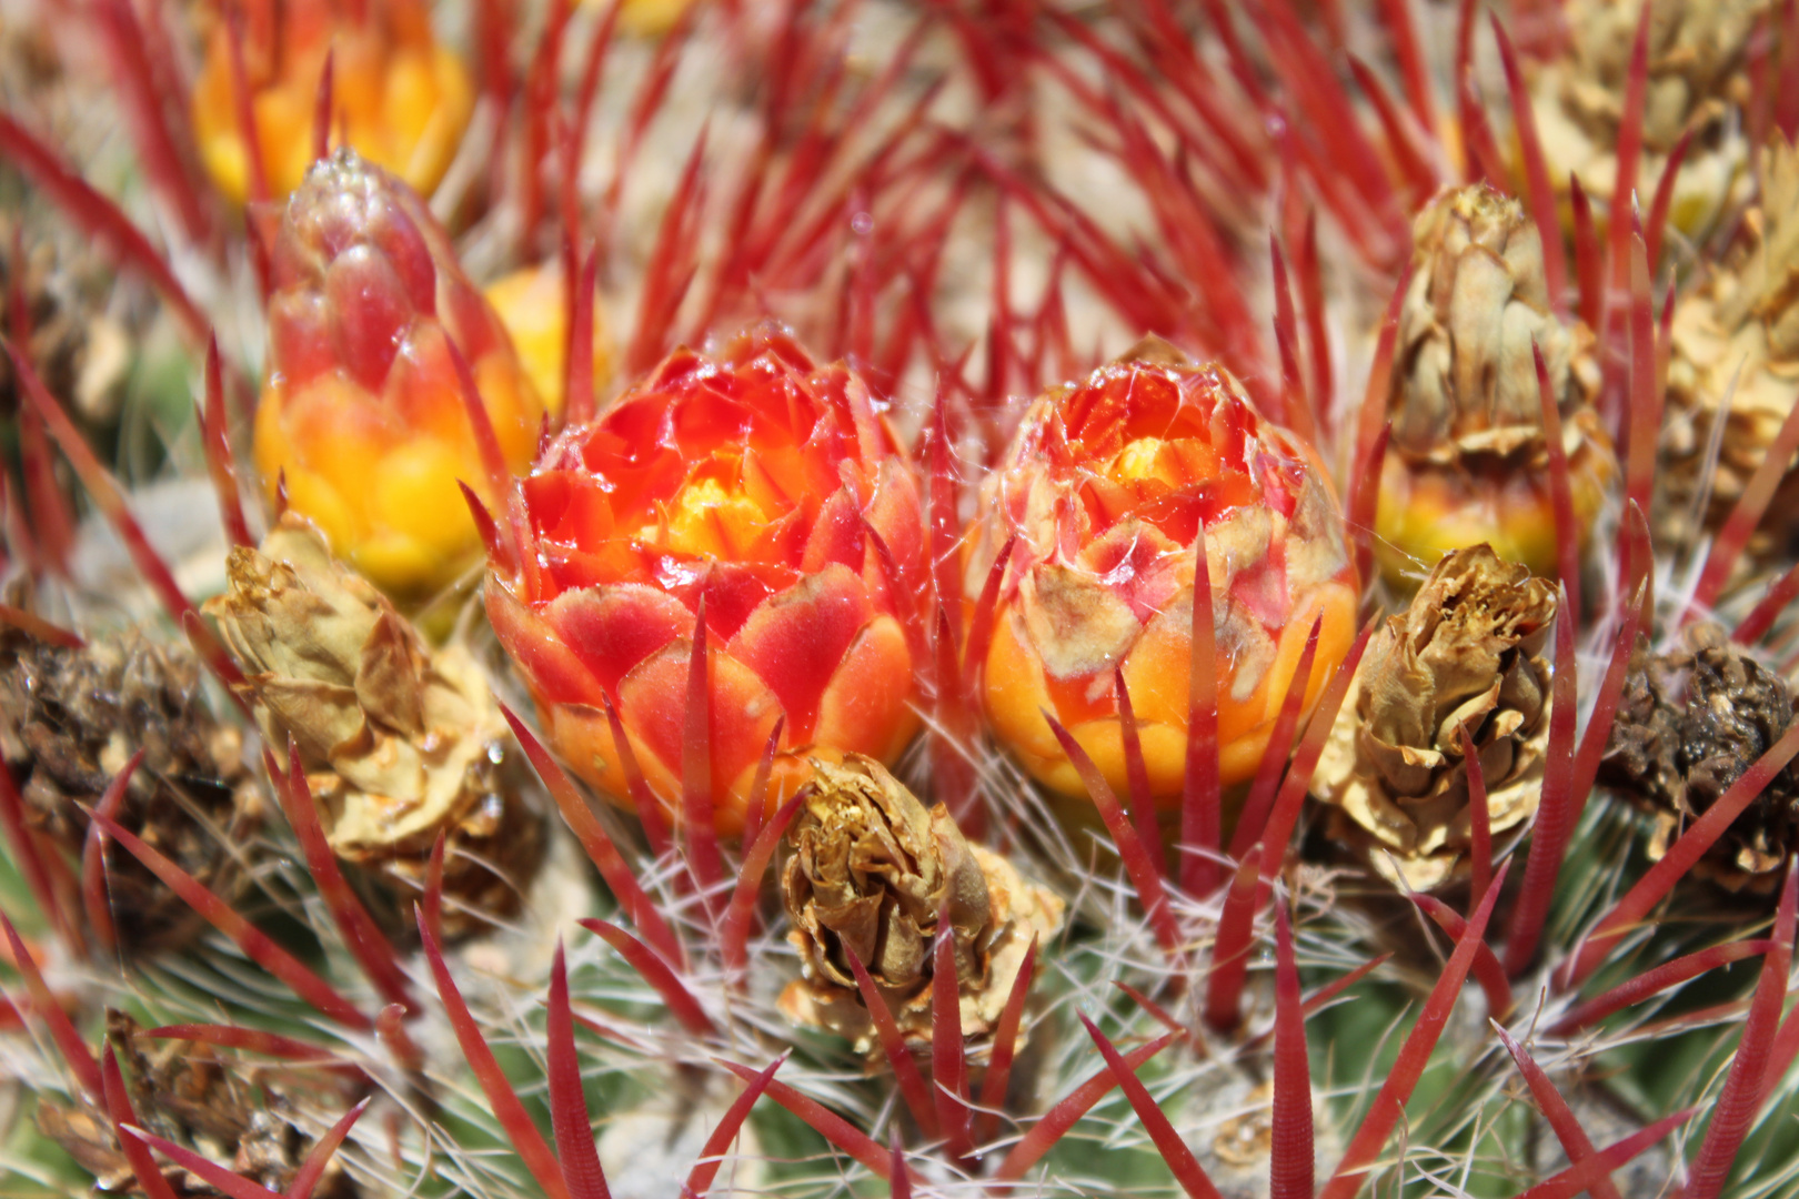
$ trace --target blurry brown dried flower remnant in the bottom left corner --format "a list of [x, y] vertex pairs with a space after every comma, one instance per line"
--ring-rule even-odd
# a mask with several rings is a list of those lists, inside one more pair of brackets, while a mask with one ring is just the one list
[[[288, 1190], [313, 1145], [311, 1134], [297, 1124], [297, 1109], [309, 1106], [313, 1097], [302, 1097], [295, 1088], [299, 1075], [291, 1068], [255, 1070], [227, 1062], [192, 1041], [146, 1039], [137, 1021], [119, 1010], [106, 1012], [106, 1039], [119, 1055], [131, 1111], [146, 1132], [227, 1163], [277, 1194]], [[333, 1104], [342, 1102], [338, 1088], [324, 1086], [322, 1079], [318, 1082], [331, 1093]], [[38, 1129], [94, 1176], [97, 1192], [146, 1194], [104, 1111], [86, 1102], [45, 1098], [38, 1104]], [[167, 1159], [162, 1161], [162, 1176], [183, 1199], [219, 1194]], [[311, 1194], [317, 1199], [353, 1199], [362, 1192], [333, 1158]]]

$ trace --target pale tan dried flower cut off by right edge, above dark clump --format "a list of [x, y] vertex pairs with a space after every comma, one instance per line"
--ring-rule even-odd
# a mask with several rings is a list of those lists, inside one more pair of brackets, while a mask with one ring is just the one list
[[[1662, 426], [1668, 469], [1655, 514], [1657, 532], [1673, 543], [1691, 543], [1700, 528], [1716, 532], [1799, 404], [1799, 151], [1779, 137], [1763, 155], [1761, 189], [1729, 257], [1675, 302]], [[1720, 413], [1718, 466], [1707, 480]], [[1788, 469], [1749, 552], [1767, 561], [1792, 554], [1795, 543], [1799, 475]]]

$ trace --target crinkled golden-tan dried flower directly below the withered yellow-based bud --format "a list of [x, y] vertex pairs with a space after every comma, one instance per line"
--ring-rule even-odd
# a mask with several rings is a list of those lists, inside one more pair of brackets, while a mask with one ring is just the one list
[[1369, 642], [1331, 728], [1313, 795], [1338, 843], [1392, 883], [1437, 888], [1466, 874], [1466, 728], [1481, 755], [1488, 825], [1520, 829], [1544, 787], [1556, 593], [1486, 545], [1446, 555]]

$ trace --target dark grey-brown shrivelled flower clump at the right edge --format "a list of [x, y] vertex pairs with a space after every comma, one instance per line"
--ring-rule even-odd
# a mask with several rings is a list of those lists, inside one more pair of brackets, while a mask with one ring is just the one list
[[[1650, 856], [1660, 859], [1792, 723], [1786, 681], [1716, 624], [1687, 626], [1684, 644], [1660, 654], [1639, 638], [1599, 778], [1653, 816]], [[1698, 868], [1731, 890], [1772, 893], [1795, 850], [1799, 773], [1788, 766]]]

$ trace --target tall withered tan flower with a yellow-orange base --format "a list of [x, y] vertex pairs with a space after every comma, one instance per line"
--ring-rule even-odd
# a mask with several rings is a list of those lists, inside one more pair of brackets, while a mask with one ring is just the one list
[[1589, 536], [1617, 457], [1585, 395], [1583, 327], [1549, 307], [1544, 248], [1517, 200], [1484, 183], [1441, 192], [1412, 223], [1412, 282], [1387, 413], [1392, 439], [1374, 520], [1394, 584], [1450, 550], [1491, 545], [1556, 572], [1556, 523], [1533, 345], [1562, 412], [1574, 518]]

